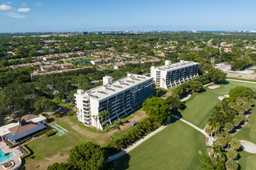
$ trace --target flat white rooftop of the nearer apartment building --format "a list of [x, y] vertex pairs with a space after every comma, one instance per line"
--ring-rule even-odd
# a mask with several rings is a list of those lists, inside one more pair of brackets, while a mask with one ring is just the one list
[[131, 87], [137, 86], [140, 83], [144, 83], [146, 80], [152, 80], [153, 78], [149, 76], [142, 76], [136, 74], [130, 74], [130, 76], [126, 76], [123, 79], [116, 80], [112, 83], [95, 87], [93, 89], [85, 91], [85, 93], [76, 95], [81, 95], [82, 97], [92, 97], [95, 100], [102, 100], [107, 97], [111, 97], [112, 95], [119, 93], [123, 90], [130, 89]]

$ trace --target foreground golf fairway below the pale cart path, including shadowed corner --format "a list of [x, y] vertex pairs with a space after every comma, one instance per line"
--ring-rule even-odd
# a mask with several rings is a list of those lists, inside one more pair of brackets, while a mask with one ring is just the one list
[[109, 164], [110, 169], [199, 169], [199, 154], [206, 155], [205, 137], [176, 121], [142, 145]]

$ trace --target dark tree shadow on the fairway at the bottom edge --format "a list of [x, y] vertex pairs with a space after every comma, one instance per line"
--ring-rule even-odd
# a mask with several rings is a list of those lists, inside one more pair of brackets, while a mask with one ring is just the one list
[[116, 159], [113, 162], [109, 162], [107, 169], [128, 169], [130, 167], [130, 155], [123, 155], [121, 158]]

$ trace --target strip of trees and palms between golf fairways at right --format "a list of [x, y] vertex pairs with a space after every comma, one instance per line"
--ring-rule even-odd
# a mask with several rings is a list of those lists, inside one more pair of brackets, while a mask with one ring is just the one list
[[240, 141], [230, 134], [234, 128], [247, 121], [245, 113], [253, 104], [255, 93], [248, 87], [235, 87], [230, 90], [230, 97], [225, 98], [220, 106], [216, 106], [213, 116], [209, 118], [206, 133], [215, 134], [217, 141], [209, 146], [211, 154], [200, 157], [201, 167], [205, 169], [238, 169], [237, 150]]

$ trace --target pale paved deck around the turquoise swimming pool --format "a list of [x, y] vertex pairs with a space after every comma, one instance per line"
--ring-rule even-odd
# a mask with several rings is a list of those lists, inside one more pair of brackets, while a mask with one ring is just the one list
[[21, 159], [19, 157], [21, 157], [23, 154], [21, 151], [18, 150], [18, 146], [15, 147], [15, 148], [9, 148], [8, 145], [5, 144], [5, 141], [1, 141], [0, 142], [0, 148], [2, 148], [2, 151], [4, 151], [5, 153], [6, 152], [14, 152], [16, 155], [12, 158], [9, 158], [9, 160], [6, 160], [5, 162], [1, 162], [0, 163], [0, 169], [5, 169], [5, 168], [2, 168], [3, 164], [12, 160], [13, 162], [15, 162], [15, 165], [10, 168], [10, 169], [18, 169], [19, 166], [22, 164], [21, 162]]

